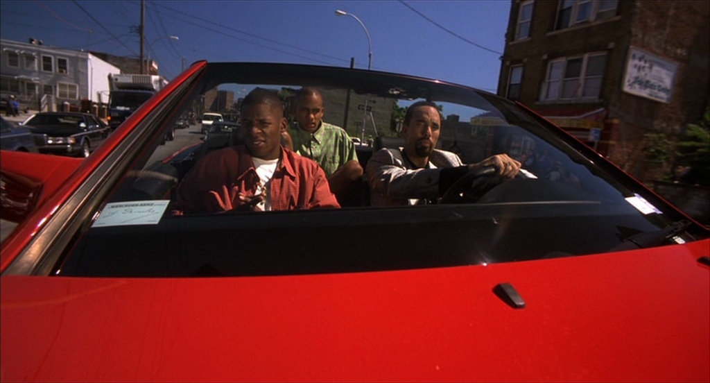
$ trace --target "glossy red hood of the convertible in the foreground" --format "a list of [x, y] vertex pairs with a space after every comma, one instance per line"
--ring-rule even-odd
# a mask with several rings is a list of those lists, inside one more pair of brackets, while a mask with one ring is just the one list
[[[707, 381], [710, 242], [310, 276], [4, 276], [4, 381]], [[495, 293], [510, 283], [525, 308]]]

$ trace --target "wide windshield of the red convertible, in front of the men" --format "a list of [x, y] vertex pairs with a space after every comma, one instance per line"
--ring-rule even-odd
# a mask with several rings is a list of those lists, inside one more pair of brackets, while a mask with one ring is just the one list
[[[656, 233], [649, 246], [693, 239], [682, 232], [687, 225], [677, 223], [681, 215], [635, 181], [620, 178], [618, 169], [600, 165], [594, 151], [495, 95], [394, 75], [332, 80], [339, 76], [326, 70], [288, 78], [273, 70], [273, 78], [262, 74], [249, 81], [246, 75], [232, 76], [241, 70], [227, 70], [226, 64], [209, 68], [214, 77], [192, 88], [184, 85], [179, 102], [160, 109], [162, 123], [136, 129], [160, 137], [183, 113], [200, 115], [203, 106], [195, 100], [214, 90], [234, 97], [223, 112], [239, 111], [236, 100], [257, 87], [276, 92], [290, 123], [297, 124], [295, 92], [316, 86], [322, 92], [323, 121], [362, 141], [355, 146], [363, 168], [378, 150], [403, 145], [407, 108], [426, 100], [437, 104], [443, 117], [437, 149], [456, 153], [464, 163], [506, 153], [522, 164], [524, 176], [504, 182], [479, 176], [469, 182], [473, 188], [483, 180], [486, 185], [476, 184], [478, 193], [462, 189], [454, 198], [428, 205], [373, 206], [372, 191], [362, 180], [351, 190], [354, 198], [339, 209], [182, 214], [175, 209], [176, 190], [195, 164], [211, 151], [244, 143], [234, 134], [201, 142], [197, 132], [186, 131], [173, 147], [154, 140], [133, 149], [130, 165], [87, 215], [92, 220], [62, 253], [55, 274], [381, 271], [614, 252], [648, 233]], [[242, 129], [235, 132], [243, 135]]]

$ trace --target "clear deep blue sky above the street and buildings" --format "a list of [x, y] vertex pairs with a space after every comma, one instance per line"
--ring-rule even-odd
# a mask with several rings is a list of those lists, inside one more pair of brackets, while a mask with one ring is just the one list
[[[367, 68], [495, 92], [510, 0], [146, 1], [146, 43], [160, 74], [196, 60]], [[0, 1], [4, 39], [138, 57], [141, 1]], [[178, 41], [166, 36], [178, 36]], [[147, 50], [147, 48], [146, 48]], [[146, 53], [147, 55], [147, 53]]]

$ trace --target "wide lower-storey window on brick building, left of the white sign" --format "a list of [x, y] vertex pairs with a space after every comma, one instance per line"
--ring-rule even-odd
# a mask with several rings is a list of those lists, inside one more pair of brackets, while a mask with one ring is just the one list
[[559, 58], [547, 65], [540, 100], [599, 99], [606, 53]]

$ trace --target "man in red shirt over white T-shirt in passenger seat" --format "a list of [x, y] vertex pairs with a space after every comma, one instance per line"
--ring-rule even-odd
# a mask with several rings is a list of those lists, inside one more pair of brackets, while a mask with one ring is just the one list
[[288, 122], [275, 92], [249, 92], [241, 104], [240, 122], [245, 145], [202, 158], [178, 188], [178, 211], [340, 207], [320, 166], [281, 146]]

